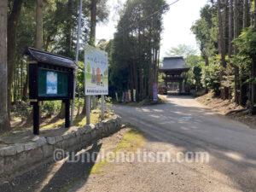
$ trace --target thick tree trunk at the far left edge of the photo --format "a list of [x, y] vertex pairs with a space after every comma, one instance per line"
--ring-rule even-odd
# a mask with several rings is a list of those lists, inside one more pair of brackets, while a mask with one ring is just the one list
[[8, 131], [7, 0], [0, 1], [0, 132]]

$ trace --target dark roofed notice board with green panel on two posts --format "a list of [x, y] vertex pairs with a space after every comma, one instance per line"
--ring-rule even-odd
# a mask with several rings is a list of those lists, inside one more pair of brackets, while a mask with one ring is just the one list
[[[39, 125], [40, 125], [40, 106], [43, 101], [55, 101], [61, 100], [65, 103], [65, 127], [70, 127], [70, 102], [74, 98], [74, 72], [77, 68], [75, 62], [61, 55], [55, 55], [46, 51], [39, 49], [34, 49], [27, 47], [24, 55], [29, 55], [29, 61], [27, 62], [28, 78], [29, 78], [29, 100], [33, 106], [33, 133], [39, 135]], [[40, 71], [41, 70], [41, 71]], [[40, 79], [42, 71], [46, 71], [45, 77]], [[54, 90], [57, 94], [47, 94], [47, 73], [65, 74], [63, 77], [65, 82], [59, 84], [58, 78], [54, 79], [51, 86], [52, 89], [62, 89], [65, 95], [58, 94], [58, 90]], [[58, 75], [57, 75], [58, 77]], [[41, 77], [42, 78], [42, 77]], [[42, 83], [43, 82], [43, 83]], [[41, 86], [45, 87], [41, 87]], [[59, 86], [60, 85], [60, 86]], [[43, 91], [43, 94], [39, 93]], [[66, 92], [65, 92], [66, 91]], [[53, 93], [55, 93], [53, 92]]]

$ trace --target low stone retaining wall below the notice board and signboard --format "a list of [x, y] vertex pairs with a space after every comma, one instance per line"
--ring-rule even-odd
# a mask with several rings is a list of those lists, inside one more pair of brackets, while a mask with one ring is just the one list
[[0, 148], [0, 174], [30, 166], [53, 157], [54, 150], [75, 150], [96, 138], [106, 137], [121, 128], [120, 117], [104, 120], [96, 125], [85, 125], [76, 131], [57, 137], [38, 137], [31, 143], [16, 143]]

